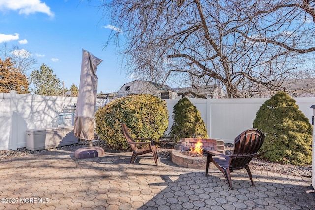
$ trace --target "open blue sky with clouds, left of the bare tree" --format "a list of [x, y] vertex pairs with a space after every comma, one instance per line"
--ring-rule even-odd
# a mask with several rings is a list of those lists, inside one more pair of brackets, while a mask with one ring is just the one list
[[[82, 49], [103, 60], [97, 68], [98, 92], [117, 92], [129, 82], [115, 46], [103, 49], [111, 26], [97, 0], [0, 0], [0, 47], [17, 45], [45, 63], [65, 87], [79, 87]], [[93, 5], [94, 4], [94, 5]], [[121, 72], [122, 71], [122, 72]], [[31, 72], [28, 72], [31, 74]]]

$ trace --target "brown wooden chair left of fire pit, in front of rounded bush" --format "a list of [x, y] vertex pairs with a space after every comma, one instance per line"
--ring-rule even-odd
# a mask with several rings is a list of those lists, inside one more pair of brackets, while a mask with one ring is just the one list
[[[134, 163], [136, 156], [152, 152], [154, 162], [156, 165], [158, 165], [158, 151], [157, 151], [156, 146], [153, 144], [153, 140], [151, 138], [134, 138], [133, 139], [130, 136], [129, 130], [128, 130], [125, 123], [122, 123], [122, 131], [123, 131], [123, 134], [124, 134], [126, 140], [128, 141], [128, 143], [130, 144], [130, 146], [133, 150], [130, 164]], [[134, 140], [150, 140], [150, 142], [134, 142]], [[138, 148], [137, 145], [144, 145], [144, 147]], [[147, 146], [145, 146], [145, 145], [147, 145]]]

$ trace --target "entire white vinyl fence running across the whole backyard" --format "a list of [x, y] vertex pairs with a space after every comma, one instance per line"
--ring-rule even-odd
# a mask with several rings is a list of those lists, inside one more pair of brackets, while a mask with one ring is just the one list
[[[208, 135], [232, 143], [242, 131], [252, 128], [260, 106], [268, 98], [257, 99], [190, 99], [201, 113]], [[300, 110], [312, 122], [315, 98], [294, 98]], [[110, 100], [98, 99], [97, 107]], [[169, 112], [169, 127], [173, 124], [173, 107], [178, 100], [165, 100]], [[23, 95], [0, 93], [0, 150], [26, 147], [26, 130], [51, 128], [55, 125], [71, 125], [72, 109], [77, 102], [73, 97]], [[57, 124], [56, 124], [57, 123]]]

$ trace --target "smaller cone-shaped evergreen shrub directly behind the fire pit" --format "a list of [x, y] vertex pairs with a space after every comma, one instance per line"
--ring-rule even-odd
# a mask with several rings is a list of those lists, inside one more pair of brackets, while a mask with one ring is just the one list
[[199, 110], [187, 98], [180, 99], [173, 110], [174, 123], [170, 137], [178, 141], [180, 138], [209, 138], [205, 123]]

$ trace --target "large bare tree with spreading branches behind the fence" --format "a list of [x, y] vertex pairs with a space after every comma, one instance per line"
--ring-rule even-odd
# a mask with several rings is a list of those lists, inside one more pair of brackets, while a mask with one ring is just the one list
[[241, 98], [282, 90], [314, 66], [314, 1], [104, 0], [102, 8], [120, 29], [109, 40], [125, 38], [138, 79], [212, 83]]

